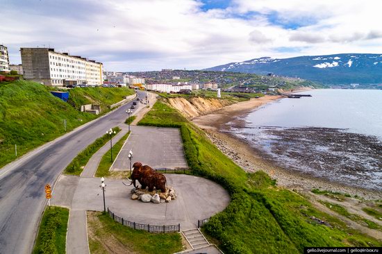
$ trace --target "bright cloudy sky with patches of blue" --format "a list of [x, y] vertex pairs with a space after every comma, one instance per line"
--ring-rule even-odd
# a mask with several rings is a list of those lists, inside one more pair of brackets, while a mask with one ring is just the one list
[[382, 53], [380, 0], [0, 0], [0, 44], [106, 71], [204, 69], [270, 56]]

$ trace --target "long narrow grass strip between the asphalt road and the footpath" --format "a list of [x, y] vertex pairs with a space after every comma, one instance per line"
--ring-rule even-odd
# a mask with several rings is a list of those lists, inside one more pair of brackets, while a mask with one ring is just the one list
[[[115, 130], [115, 133], [119, 133], [121, 129], [119, 127], [115, 127], [113, 128], [113, 130]], [[76, 158], [74, 158], [72, 162], [70, 162], [70, 164], [66, 167], [64, 173], [74, 176], [81, 175], [83, 168], [88, 163], [90, 158], [92, 158], [92, 155], [94, 155], [94, 153], [97, 153], [97, 151], [109, 141], [110, 135], [108, 134], [105, 134], [102, 137], [96, 139], [96, 141], [94, 141], [86, 149], [81, 151], [81, 153], [78, 153]]]

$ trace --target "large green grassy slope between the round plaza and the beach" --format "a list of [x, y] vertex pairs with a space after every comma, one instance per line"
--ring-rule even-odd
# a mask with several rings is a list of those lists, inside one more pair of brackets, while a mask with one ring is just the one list
[[[227, 189], [231, 203], [204, 227], [226, 253], [301, 253], [304, 246], [382, 244], [315, 210], [298, 194], [272, 186], [265, 173], [245, 173], [199, 128], [163, 102], [158, 101], [139, 124], [180, 127], [193, 173]], [[332, 227], [316, 223], [313, 216], [328, 221]]]

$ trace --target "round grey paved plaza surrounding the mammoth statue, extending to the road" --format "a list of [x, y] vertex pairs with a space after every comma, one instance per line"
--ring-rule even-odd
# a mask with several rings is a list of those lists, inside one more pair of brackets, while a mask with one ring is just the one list
[[[122, 180], [106, 178], [106, 208], [115, 212], [119, 217], [137, 223], [152, 225], [176, 225], [181, 223], [181, 230], [197, 227], [200, 219], [206, 219], [220, 212], [229, 204], [229, 194], [213, 181], [197, 176], [181, 174], [165, 174], [169, 186], [174, 187], [177, 198], [170, 203], [142, 203], [131, 200], [130, 191], [133, 186], [126, 187]], [[78, 183], [72, 210], [103, 210], [102, 191], [99, 178], [78, 178], [76, 176], [60, 176], [57, 187], [53, 192], [51, 203], [65, 205], [69, 203], [65, 194], [69, 192], [69, 183]], [[63, 185], [61, 187], [60, 185]], [[73, 185], [72, 185], [73, 186]], [[67, 195], [69, 198], [69, 195]], [[72, 218], [72, 217], [71, 217]], [[70, 228], [68, 234], [70, 232]], [[77, 234], [76, 231], [74, 231]], [[72, 234], [72, 232], [71, 232]], [[69, 246], [69, 242], [68, 242]]]

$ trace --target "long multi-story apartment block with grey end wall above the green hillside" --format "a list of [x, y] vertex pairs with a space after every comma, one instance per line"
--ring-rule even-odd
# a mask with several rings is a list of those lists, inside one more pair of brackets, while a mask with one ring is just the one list
[[103, 65], [47, 48], [22, 48], [24, 78], [44, 85], [101, 85]]

